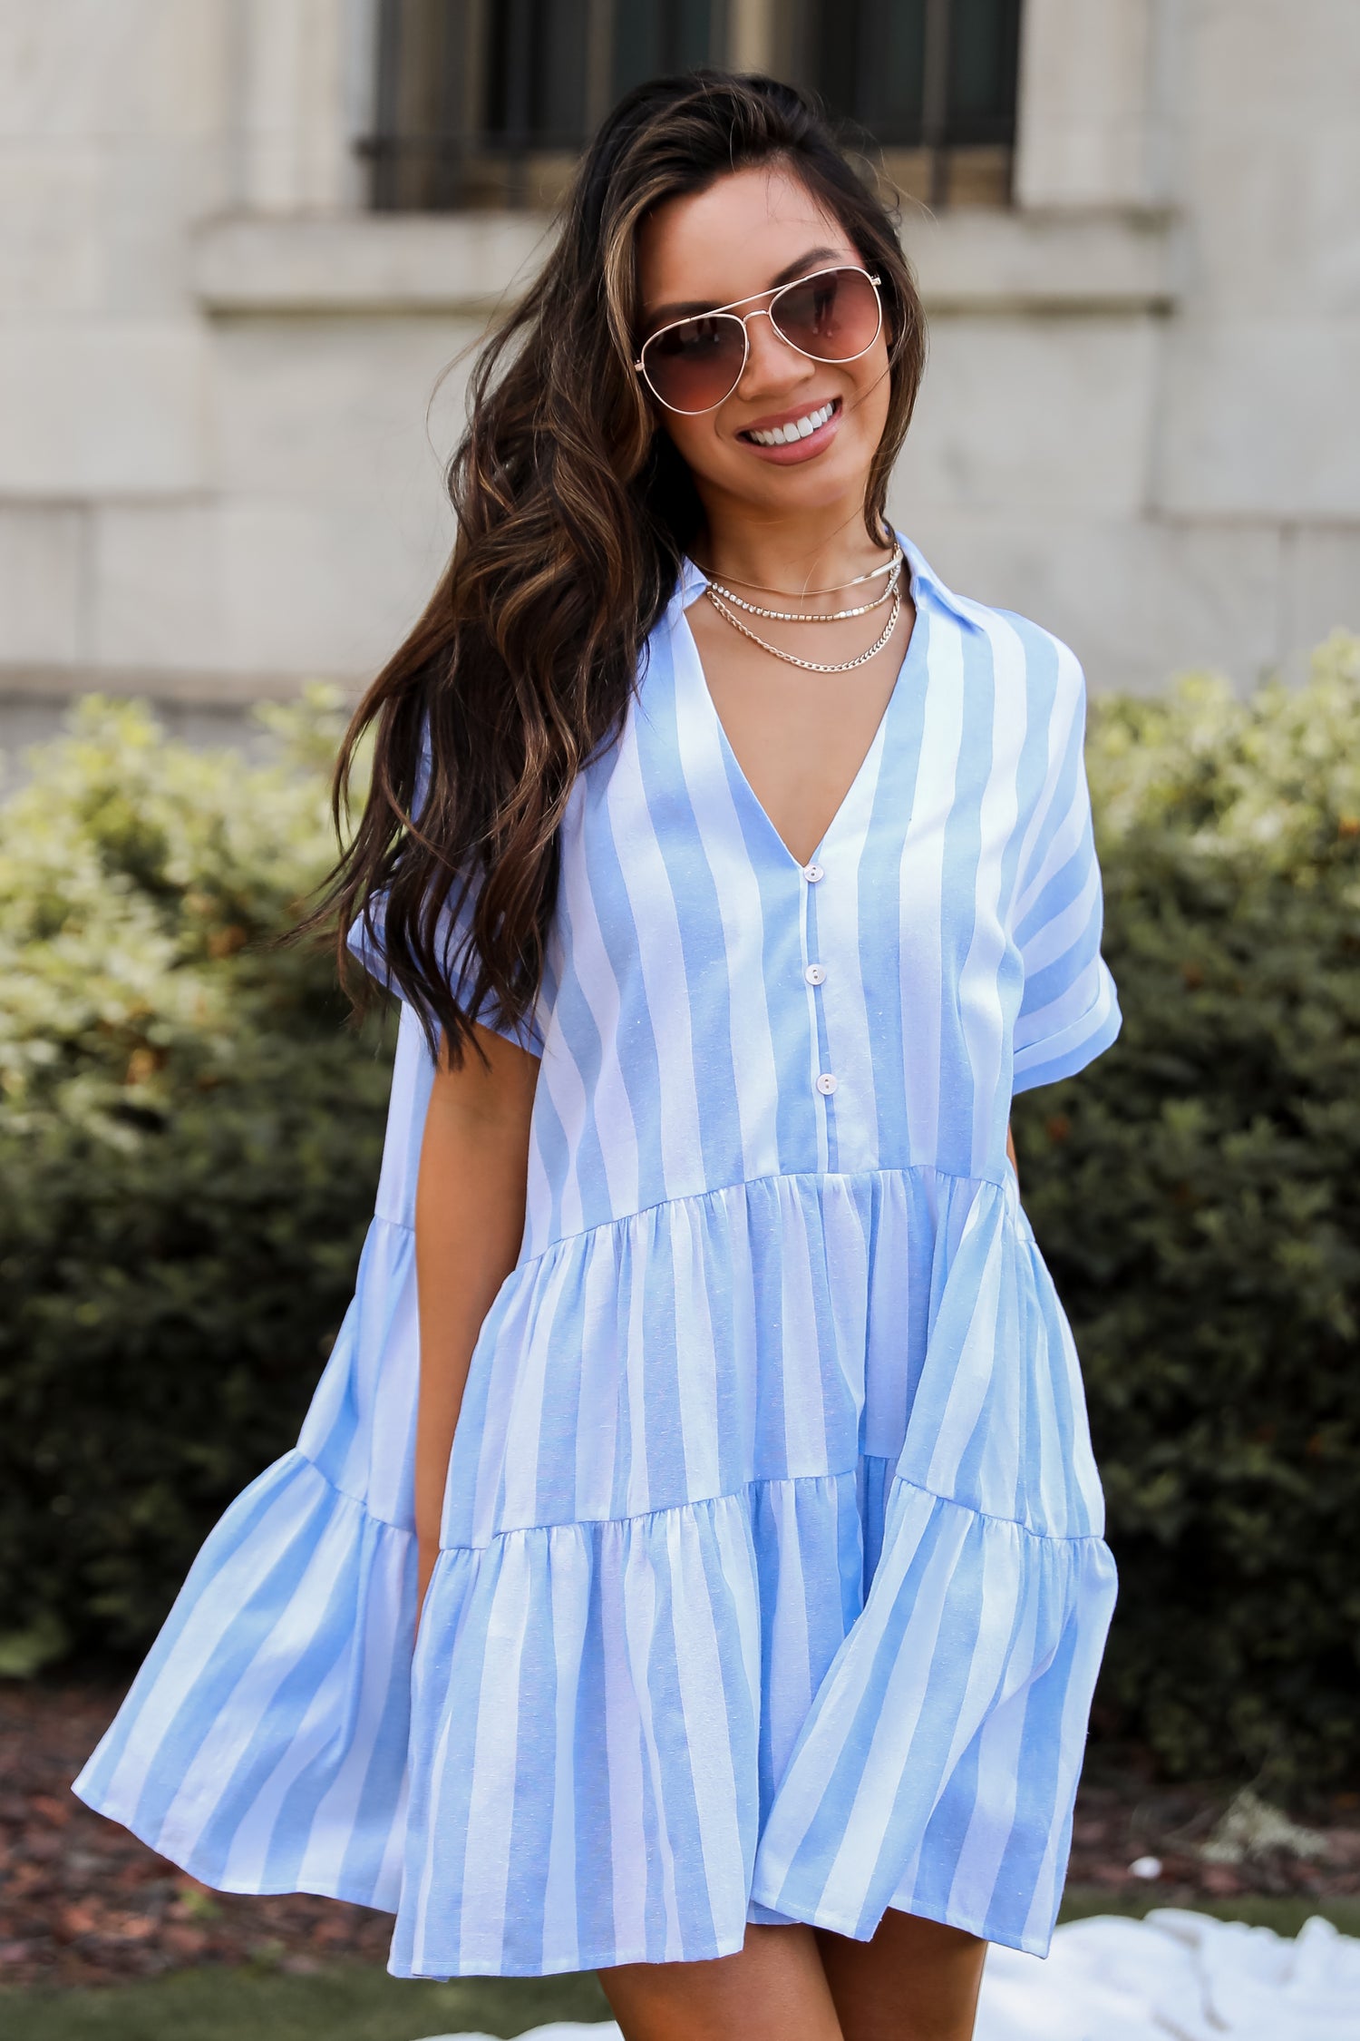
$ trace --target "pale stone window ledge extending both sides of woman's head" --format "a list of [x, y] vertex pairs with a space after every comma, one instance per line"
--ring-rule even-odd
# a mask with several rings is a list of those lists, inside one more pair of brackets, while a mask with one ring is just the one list
[[[198, 302], [226, 316], [485, 316], [548, 247], [542, 214], [234, 214], [200, 227]], [[928, 312], [1158, 312], [1174, 300], [1162, 212], [909, 214]]]

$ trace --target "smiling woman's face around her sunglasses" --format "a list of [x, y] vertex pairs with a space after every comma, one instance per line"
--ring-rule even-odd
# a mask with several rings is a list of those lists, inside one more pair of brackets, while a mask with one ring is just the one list
[[[767, 292], [814, 269], [865, 261], [844, 227], [781, 163], [720, 178], [671, 198], [638, 241], [640, 341], [687, 312], [752, 312]], [[657, 420], [689, 465], [705, 504], [748, 504], [773, 514], [865, 502], [865, 484], [889, 408], [887, 327], [858, 361], [809, 361], [763, 314], [746, 325], [746, 367], [716, 410], [683, 414], [655, 404]], [[830, 418], [805, 439], [761, 445], [752, 433]], [[714, 504], [716, 506], [716, 504]]]

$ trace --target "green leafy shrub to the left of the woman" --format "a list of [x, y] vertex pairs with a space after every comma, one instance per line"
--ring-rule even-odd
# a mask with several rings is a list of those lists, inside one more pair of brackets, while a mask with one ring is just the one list
[[387, 1067], [273, 945], [336, 716], [271, 716], [247, 767], [90, 700], [0, 810], [0, 1670], [149, 1639], [351, 1292]]

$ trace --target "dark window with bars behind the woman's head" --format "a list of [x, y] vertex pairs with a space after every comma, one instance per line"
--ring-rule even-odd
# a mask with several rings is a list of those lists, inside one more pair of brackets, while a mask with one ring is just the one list
[[[724, 61], [728, 12], [726, 0], [379, 0], [361, 143], [373, 204], [551, 204], [622, 92]], [[934, 200], [1005, 196], [1019, 0], [775, 0], [771, 12], [779, 61], [867, 129], [899, 182]]]

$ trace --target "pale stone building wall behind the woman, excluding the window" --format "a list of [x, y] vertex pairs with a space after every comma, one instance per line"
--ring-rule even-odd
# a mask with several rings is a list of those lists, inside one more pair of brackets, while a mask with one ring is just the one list
[[[508, 4], [508, 0], [502, 0]], [[628, 4], [628, 0], [614, 0]], [[0, 12], [0, 696], [359, 686], [449, 547], [532, 210], [373, 210], [375, 0]], [[781, 0], [724, 49], [779, 63]], [[1095, 686], [1360, 625], [1356, 0], [1024, 0], [1009, 196], [907, 204], [895, 510]]]

